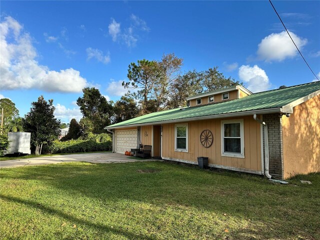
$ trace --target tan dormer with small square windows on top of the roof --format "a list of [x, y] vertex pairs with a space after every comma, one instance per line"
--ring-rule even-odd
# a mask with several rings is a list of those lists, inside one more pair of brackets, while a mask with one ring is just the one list
[[186, 98], [186, 100], [190, 101], [189, 106], [199, 106], [221, 101], [233, 100], [250, 94], [252, 94], [252, 92], [245, 87], [236, 85], [194, 96], [189, 96], [188, 98]]

